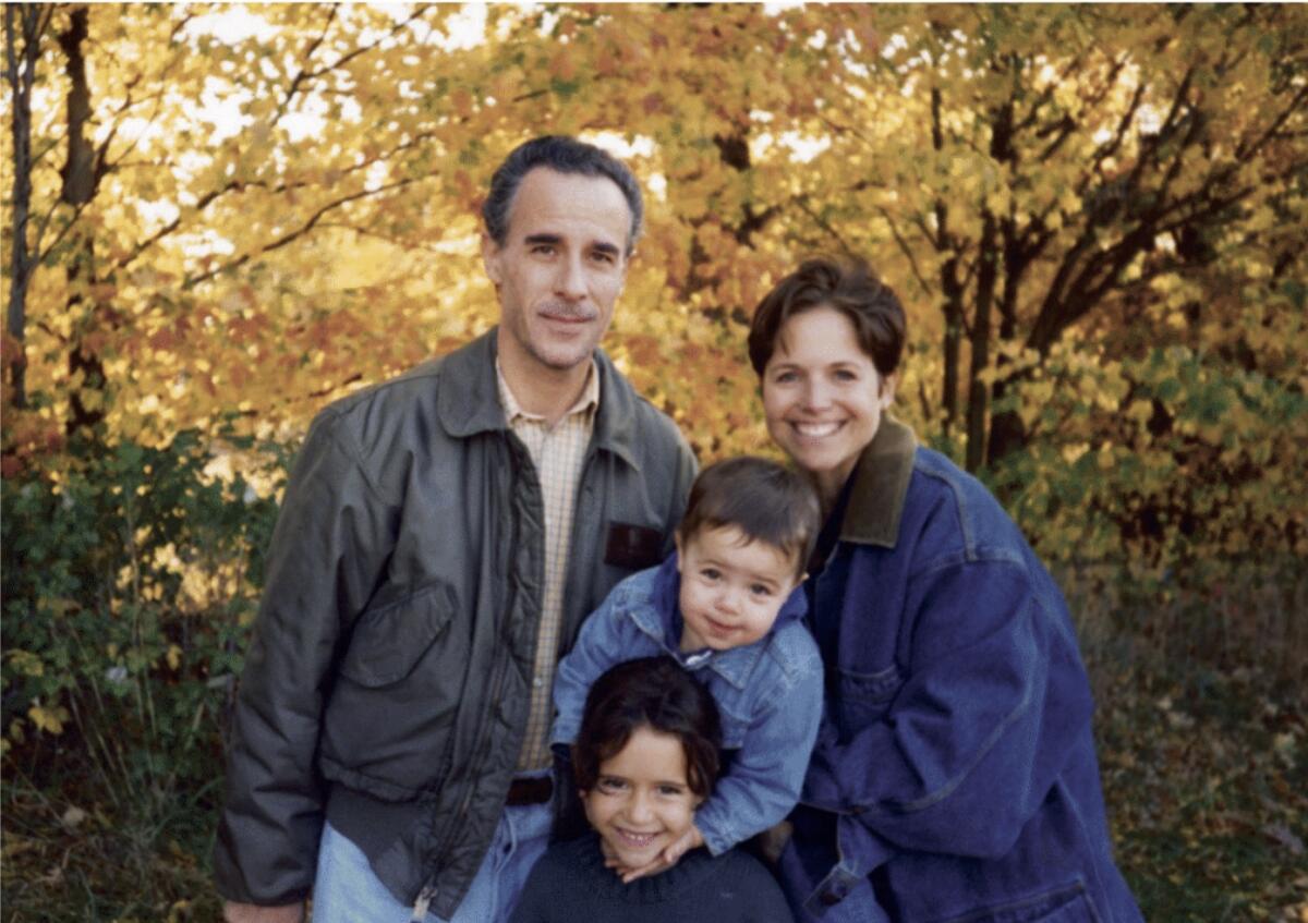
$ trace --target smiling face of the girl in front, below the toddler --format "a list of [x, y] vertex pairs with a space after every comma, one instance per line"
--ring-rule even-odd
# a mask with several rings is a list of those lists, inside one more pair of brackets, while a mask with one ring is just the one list
[[599, 765], [594, 791], [581, 794], [604, 856], [646, 865], [691, 829], [700, 799], [685, 778], [680, 737], [640, 727]]

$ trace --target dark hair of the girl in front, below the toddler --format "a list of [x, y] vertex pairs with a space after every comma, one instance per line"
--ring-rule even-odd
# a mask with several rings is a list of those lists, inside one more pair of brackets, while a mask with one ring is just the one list
[[595, 680], [573, 744], [577, 787], [593, 791], [599, 765], [617, 756], [642, 727], [680, 739], [685, 780], [692, 792], [708, 797], [722, 769], [718, 706], [670, 656], [628, 660]]

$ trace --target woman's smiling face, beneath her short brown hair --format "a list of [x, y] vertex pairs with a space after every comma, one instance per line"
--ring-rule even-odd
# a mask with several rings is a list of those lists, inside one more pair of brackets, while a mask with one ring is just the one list
[[763, 370], [768, 433], [827, 501], [876, 435], [893, 397], [895, 377], [882, 378], [854, 324], [827, 306], [791, 316]]

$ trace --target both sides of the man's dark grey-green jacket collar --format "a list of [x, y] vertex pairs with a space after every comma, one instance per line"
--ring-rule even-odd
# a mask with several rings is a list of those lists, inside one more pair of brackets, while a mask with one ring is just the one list
[[[441, 391], [437, 409], [445, 430], [459, 439], [477, 433], [506, 431], [504, 408], [496, 382], [496, 331], [490, 328], [476, 340], [441, 360]], [[596, 448], [619, 455], [632, 468], [637, 465], [636, 401], [638, 397], [602, 349], [595, 350], [599, 371], [599, 411], [595, 413]]]

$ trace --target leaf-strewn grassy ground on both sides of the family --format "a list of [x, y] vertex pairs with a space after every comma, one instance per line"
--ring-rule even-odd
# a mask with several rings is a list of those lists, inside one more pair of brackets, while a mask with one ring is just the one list
[[[1117, 860], [1144, 918], [1308, 923], [1308, 580], [1152, 603], [1083, 574], [1063, 583]], [[218, 919], [216, 756], [208, 769], [128, 778], [132, 764], [97, 764], [76, 726], [9, 747], [0, 918]]]

